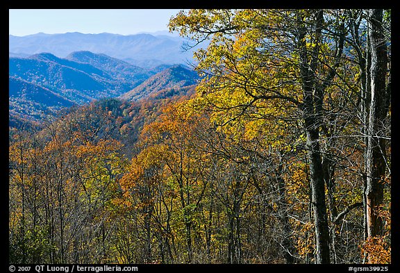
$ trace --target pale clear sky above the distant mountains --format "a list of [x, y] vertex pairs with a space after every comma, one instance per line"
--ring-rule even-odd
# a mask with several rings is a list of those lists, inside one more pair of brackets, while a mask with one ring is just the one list
[[10, 9], [9, 34], [115, 33], [168, 31], [178, 9]]

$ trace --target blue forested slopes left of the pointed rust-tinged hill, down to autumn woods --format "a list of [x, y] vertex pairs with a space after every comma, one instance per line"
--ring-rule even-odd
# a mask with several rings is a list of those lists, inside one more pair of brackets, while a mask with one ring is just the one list
[[9, 58], [8, 64], [10, 119], [28, 121], [73, 104], [117, 97], [156, 73], [90, 52], [71, 53], [68, 58], [39, 53]]

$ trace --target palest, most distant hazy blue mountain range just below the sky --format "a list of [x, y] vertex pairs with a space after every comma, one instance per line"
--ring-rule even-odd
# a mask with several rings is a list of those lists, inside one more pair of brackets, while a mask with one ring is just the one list
[[65, 58], [74, 51], [104, 53], [118, 59], [131, 59], [133, 64], [178, 64], [193, 61], [193, 49], [183, 50], [187, 40], [172, 35], [119, 35], [112, 33], [38, 33], [26, 36], [9, 35], [12, 54], [49, 52]]

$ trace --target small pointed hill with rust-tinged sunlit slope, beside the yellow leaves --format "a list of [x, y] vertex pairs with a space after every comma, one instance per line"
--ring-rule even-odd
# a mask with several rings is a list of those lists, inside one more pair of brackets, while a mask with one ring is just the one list
[[163, 90], [179, 90], [196, 85], [199, 80], [197, 72], [183, 65], [167, 67], [151, 76], [133, 90], [119, 96], [125, 100], [138, 100], [160, 94]]

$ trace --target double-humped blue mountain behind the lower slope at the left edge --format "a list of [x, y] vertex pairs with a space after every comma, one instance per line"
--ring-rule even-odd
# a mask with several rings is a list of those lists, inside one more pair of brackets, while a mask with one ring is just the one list
[[68, 58], [51, 53], [9, 58], [10, 76], [47, 88], [76, 104], [117, 97], [152, 74], [122, 60], [91, 52], [72, 53]]

